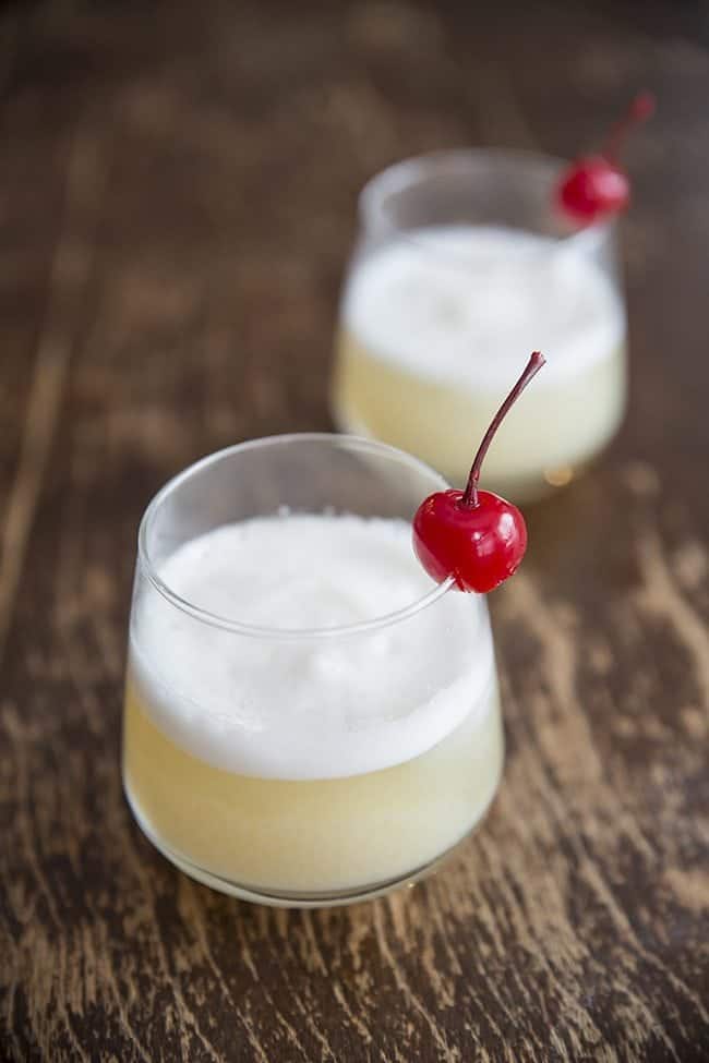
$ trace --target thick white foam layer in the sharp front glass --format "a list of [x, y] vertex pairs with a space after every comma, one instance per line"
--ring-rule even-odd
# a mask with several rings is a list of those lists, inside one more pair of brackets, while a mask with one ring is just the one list
[[[161, 567], [181, 597], [245, 624], [336, 627], [405, 608], [433, 587], [405, 521], [289, 515], [229, 524]], [[262, 639], [196, 620], [145, 583], [131, 675], [156, 724], [217, 768], [332, 778], [410, 760], [488, 711], [484, 600], [452, 591], [374, 631]]]

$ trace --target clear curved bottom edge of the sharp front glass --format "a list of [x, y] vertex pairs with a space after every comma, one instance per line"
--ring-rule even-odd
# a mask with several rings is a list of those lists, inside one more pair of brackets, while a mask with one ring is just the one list
[[266, 890], [261, 886], [245, 886], [238, 882], [232, 882], [231, 879], [223, 878], [219, 874], [215, 874], [212, 871], [207, 871], [204, 868], [199, 867], [199, 865], [193, 863], [181, 853], [176, 853], [172, 848], [170, 848], [169, 845], [167, 845], [166, 842], [155, 834], [147, 819], [143, 816], [139, 806], [133, 800], [125, 782], [123, 782], [123, 790], [125, 793], [125, 799], [129, 804], [131, 812], [133, 813], [133, 818], [148, 842], [151, 842], [158, 853], [169, 860], [170, 863], [173, 863], [176, 868], [183, 871], [191, 879], [195, 879], [203, 885], [211, 886], [211, 889], [217, 890], [219, 893], [226, 893], [229, 896], [237, 897], [239, 901], [249, 901], [251, 904], [263, 904], [274, 908], [335, 908], [339, 905], [359, 904], [362, 901], [374, 901], [376, 897], [382, 897], [387, 893], [392, 893], [394, 890], [399, 890], [404, 886], [412, 886], [421, 879], [428, 878], [430, 874], [435, 873], [442, 867], [442, 865], [445, 863], [455, 853], [457, 853], [457, 850], [465, 845], [468, 838], [476, 833], [492, 806], [495, 794], [497, 793], [497, 786], [495, 786], [490, 801], [484, 807], [470, 830], [467, 831], [454, 845], [447, 848], [444, 853], [441, 853], [440, 856], [435, 857], [433, 860], [430, 860], [422, 867], [414, 868], [412, 871], [409, 871], [406, 874], [397, 875], [394, 879], [387, 879], [382, 882], [374, 882], [369, 885], [356, 886], [351, 889], [328, 890], [323, 893], [317, 891], [305, 893], [291, 892], [288, 890]]

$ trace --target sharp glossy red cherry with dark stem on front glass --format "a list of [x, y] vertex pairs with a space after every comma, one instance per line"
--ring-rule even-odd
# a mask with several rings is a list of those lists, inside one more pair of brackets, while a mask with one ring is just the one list
[[512, 503], [478, 487], [480, 467], [510, 406], [544, 364], [534, 351], [524, 373], [495, 413], [472, 462], [464, 491], [436, 491], [413, 518], [413, 549], [438, 583], [453, 576], [461, 591], [485, 594], [519, 566], [527, 549], [525, 518]]

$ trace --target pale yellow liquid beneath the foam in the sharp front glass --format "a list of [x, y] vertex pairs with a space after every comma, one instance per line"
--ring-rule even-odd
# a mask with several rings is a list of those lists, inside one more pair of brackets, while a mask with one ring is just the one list
[[394, 768], [298, 782], [235, 774], [156, 726], [129, 666], [125, 789], [151, 838], [197, 878], [266, 894], [357, 892], [406, 878], [478, 823], [502, 763], [493, 689], [437, 746]]

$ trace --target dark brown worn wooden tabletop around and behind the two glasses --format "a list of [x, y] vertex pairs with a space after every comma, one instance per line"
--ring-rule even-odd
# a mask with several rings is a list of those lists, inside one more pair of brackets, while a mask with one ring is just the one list
[[[1, 1058], [709, 1059], [706, 10], [4, 8]], [[212, 449], [328, 427], [370, 174], [466, 143], [568, 155], [640, 85], [630, 411], [492, 602], [493, 812], [369, 905], [193, 884], [119, 777], [143, 507]]]

